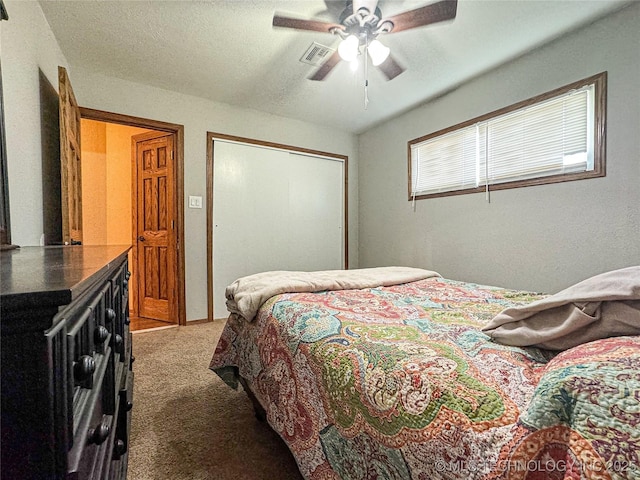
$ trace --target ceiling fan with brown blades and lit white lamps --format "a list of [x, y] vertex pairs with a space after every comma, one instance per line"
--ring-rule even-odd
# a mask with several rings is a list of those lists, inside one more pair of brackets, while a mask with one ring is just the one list
[[457, 6], [458, 0], [440, 0], [383, 18], [378, 8], [378, 0], [346, 0], [346, 8], [338, 23], [304, 20], [276, 13], [273, 16], [273, 26], [331, 33], [342, 38], [338, 50], [309, 77], [310, 80], [324, 80], [340, 60], [357, 61], [361, 49], [366, 52], [365, 56], [369, 55], [371, 63], [378, 67], [388, 80], [392, 80], [400, 75], [404, 68], [394, 60], [389, 47], [384, 46], [378, 37], [452, 20], [456, 17]]

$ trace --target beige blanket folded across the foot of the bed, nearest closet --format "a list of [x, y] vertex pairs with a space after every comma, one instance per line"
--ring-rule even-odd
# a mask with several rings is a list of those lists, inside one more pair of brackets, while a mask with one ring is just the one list
[[412, 267], [376, 267], [319, 272], [263, 272], [242, 277], [225, 290], [227, 310], [251, 321], [264, 302], [280, 293], [352, 290], [398, 285], [440, 275]]

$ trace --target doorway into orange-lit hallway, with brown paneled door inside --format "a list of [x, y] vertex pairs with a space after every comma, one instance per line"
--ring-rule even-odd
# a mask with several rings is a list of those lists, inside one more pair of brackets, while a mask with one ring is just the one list
[[[83, 164], [93, 161], [96, 166], [87, 179], [92, 185], [91, 195], [104, 195], [107, 205], [100, 207], [98, 202], [93, 211], [90, 205], [85, 206], [83, 243], [132, 245], [129, 258], [132, 331], [185, 325], [184, 127], [87, 108], [80, 108], [80, 112], [83, 124], [112, 133], [109, 149], [94, 149], [98, 157], [103, 155], [102, 159], [91, 158], [91, 154], [82, 159]], [[85, 132], [82, 133], [84, 137]], [[91, 136], [88, 140], [100, 141]], [[109, 171], [105, 171], [107, 166]], [[92, 176], [108, 181], [91, 182]], [[85, 200], [90, 202], [87, 197]]]

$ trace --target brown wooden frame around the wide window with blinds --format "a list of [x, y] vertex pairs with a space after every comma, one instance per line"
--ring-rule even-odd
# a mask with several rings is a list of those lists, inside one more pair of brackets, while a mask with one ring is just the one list
[[[520, 179], [520, 180], [514, 180], [509, 182], [503, 182], [503, 183], [495, 183], [495, 184], [490, 183], [488, 184], [488, 186], [482, 185], [479, 187], [465, 188], [461, 190], [451, 190], [451, 191], [437, 192], [437, 193], [426, 193], [426, 194], [419, 194], [415, 196], [413, 195], [412, 186], [413, 186], [414, 179], [412, 176], [413, 162], [411, 158], [411, 147], [413, 145], [425, 142], [435, 137], [447, 135], [454, 131], [460, 130], [462, 128], [467, 128], [469, 126], [472, 126], [480, 122], [486, 122], [495, 117], [499, 117], [519, 109], [527, 108], [531, 105], [544, 102], [553, 97], [557, 97], [559, 95], [570, 92], [571, 90], [582, 88], [586, 85], [594, 86], [593, 170], [587, 170], [584, 172], [574, 172], [574, 173], [560, 173], [557, 175], [534, 177], [530, 179]], [[466, 195], [469, 193], [482, 193], [487, 191], [487, 189], [492, 191], [507, 190], [512, 188], [529, 187], [534, 185], [546, 185], [551, 183], [584, 180], [587, 178], [604, 177], [606, 176], [606, 158], [605, 158], [606, 157], [606, 110], [607, 110], [607, 72], [605, 71], [597, 75], [592, 75], [582, 80], [578, 80], [577, 82], [564, 85], [562, 87], [556, 88], [554, 90], [543, 93], [541, 95], [536, 95], [535, 97], [531, 97], [527, 100], [514, 103], [513, 105], [509, 105], [507, 107], [494, 110], [493, 112], [487, 113], [485, 115], [481, 115], [479, 117], [475, 117], [471, 120], [467, 120], [465, 122], [458, 123], [456, 125], [444, 128], [442, 130], [438, 130], [428, 135], [424, 135], [422, 137], [409, 140], [407, 142], [407, 159], [408, 159], [407, 188], [409, 193], [408, 200], [413, 201], [414, 199], [422, 200], [427, 198], [448, 197], [453, 195]]]

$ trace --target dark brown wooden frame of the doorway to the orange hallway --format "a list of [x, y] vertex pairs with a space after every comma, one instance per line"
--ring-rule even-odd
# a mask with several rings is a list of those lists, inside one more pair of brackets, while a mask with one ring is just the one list
[[[161, 132], [169, 132], [175, 135], [175, 152], [174, 160], [174, 186], [176, 201], [176, 228], [174, 230], [176, 245], [176, 271], [174, 272], [177, 279], [176, 284], [176, 305], [171, 310], [178, 318], [178, 325], [187, 324], [186, 302], [185, 302], [185, 257], [184, 257], [184, 125], [176, 123], [162, 122], [159, 120], [151, 120], [148, 118], [133, 117], [131, 115], [123, 115], [120, 113], [105, 112], [103, 110], [95, 110], [92, 108], [80, 107], [81, 118], [87, 120], [95, 120], [98, 122], [116, 123], [120, 125], [128, 125], [130, 127], [147, 128], [149, 130], [158, 130]], [[133, 213], [132, 213], [133, 215]]]

